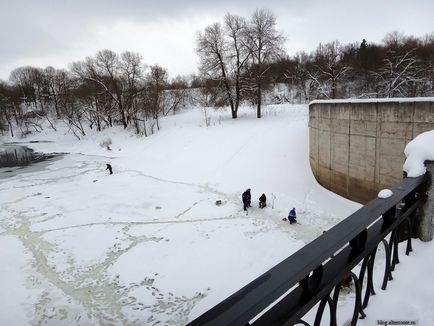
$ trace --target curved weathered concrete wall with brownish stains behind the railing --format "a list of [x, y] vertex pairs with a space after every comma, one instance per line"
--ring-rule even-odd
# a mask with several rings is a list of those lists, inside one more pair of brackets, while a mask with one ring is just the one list
[[367, 203], [402, 179], [405, 146], [433, 129], [434, 98], [313, 101], [313, 174], [325, 188]]

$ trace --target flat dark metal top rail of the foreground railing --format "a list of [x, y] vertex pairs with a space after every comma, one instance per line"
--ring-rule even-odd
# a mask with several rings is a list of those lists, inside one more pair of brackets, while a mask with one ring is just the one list
[[403, 179], [391, 188], [393, 194], [389, 198], [375, 198], [189, 325], [247, 325], [315, 268], [400, 203], [424, 180], [425, 176]]

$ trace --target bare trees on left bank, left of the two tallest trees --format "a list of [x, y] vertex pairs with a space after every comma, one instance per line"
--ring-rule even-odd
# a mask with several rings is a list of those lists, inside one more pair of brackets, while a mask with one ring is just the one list
[[145, 136], [160, 128], [159, 118], [186, 100], [182, 78], [169, 83], [167, 70], [146, 67], [138, 53], [99, 51], [74, 62], [70, 70], [20, 67], [10, 82], [0, 82], [1, 131], [40, 131], [53, 119], [63, 121], [77, 138], [86, 128], [98, 131], [116, 124]]

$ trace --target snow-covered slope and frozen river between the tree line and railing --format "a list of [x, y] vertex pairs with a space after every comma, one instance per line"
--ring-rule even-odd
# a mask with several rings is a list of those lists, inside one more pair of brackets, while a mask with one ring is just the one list
[[[315, 181], [307, 106], [268, 106], [261, 120], [210, 110], [209, 127], [203, 110], [164, 118], [148, 138], [111, 129], [25, 140], [70, 154], [11, 177], [0, 169], [0, 325], [184, 325], [359, 207]], [[292, 207], [299, 224], [282, 221]], [[432, 257], [432, 245], [415, 246], [401, 265], [416, 266], [420, 248]], [[405, 282], [392, 283], [375, 299]], [[383, 318], [371, 305], [366, 325]]]

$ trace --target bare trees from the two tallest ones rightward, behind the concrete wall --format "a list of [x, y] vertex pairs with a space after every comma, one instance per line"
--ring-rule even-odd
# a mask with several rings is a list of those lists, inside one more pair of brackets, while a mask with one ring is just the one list
[[[434, 96], [434, 33], [422, 38], [392, 32], [382, 44], [320, 43], [311, 53], [284, 54], [285, 38], [276, 16], [258, 9], [246, 19], [228, 13], [198, 33], [201, 80], [208, 104], [229, 106], [237, 117], [240, 103], [257, 107], [263, 90], [287, 86], [278, 101]], [[289, 94], [288, 94], [289, 93]]]

